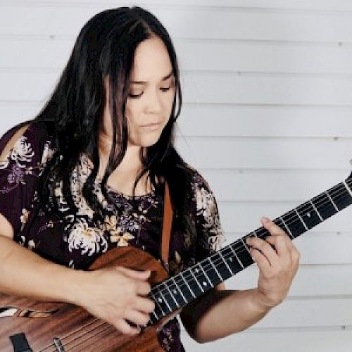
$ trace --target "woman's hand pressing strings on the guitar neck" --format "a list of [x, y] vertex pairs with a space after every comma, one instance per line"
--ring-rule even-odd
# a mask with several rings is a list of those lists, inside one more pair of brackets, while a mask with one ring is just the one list
[[259, 268], [259, 302], [272, 308], [287, 296], [298, 269], [300, 254], [287, 234], [274, 222], [268, 218], [260, 221], [270, 236], [265, 240], [251, 237], [247, 244], [251, 246], [251, 256]]

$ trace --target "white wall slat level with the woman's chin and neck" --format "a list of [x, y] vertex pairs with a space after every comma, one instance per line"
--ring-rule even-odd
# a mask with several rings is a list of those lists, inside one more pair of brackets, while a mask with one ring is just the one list
[[352, 157], [349, 139], [187, 137], [177, 139], [176, 145], [196, 168], [346, 170]]

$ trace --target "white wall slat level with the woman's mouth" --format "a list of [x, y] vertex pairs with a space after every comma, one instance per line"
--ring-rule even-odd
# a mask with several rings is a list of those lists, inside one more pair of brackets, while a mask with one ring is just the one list
[[[43, 103], [1, 103], [1, 128], [31, 118]], [[352, 137], [352, 108], [184, 104], [180, 137]], [[221, 123], [219, 123], [221, 121]], [[324, 121], [324, 123], [322, 123]], [[8, 124], [8, 125], [7, 125]]]

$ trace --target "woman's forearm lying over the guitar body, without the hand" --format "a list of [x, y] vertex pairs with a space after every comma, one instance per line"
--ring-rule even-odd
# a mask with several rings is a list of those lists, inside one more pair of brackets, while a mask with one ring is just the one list
[[1, 293], [75, 303], [75, 283], [82, 272], [51, 263], [1, 235], [0, 263]]

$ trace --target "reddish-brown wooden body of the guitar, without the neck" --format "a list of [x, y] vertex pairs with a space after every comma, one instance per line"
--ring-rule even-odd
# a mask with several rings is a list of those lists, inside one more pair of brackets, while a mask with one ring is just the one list
[[[152, 286], [168, 278], [161, 263], [149, 253], [132, 246], [111, 249], [99, 257], [89, 270], [110, 266], [151, 270], [149, 282]], [[11, 312], [10, 307], [22, 310], [17, 310], [13, 316], [4, 316]], [[131, 337], [120, 334], [113, 326], [71, 304], [35, 302], [0, 294], [0, 351], [15, 351], [10, 336], [20, 333], [25, 334], [31, 348], [22, 351], [164, 351], [158, 344], [158, 329], [176, 314], [166, 316], [143, 329], [141, 334]]]

